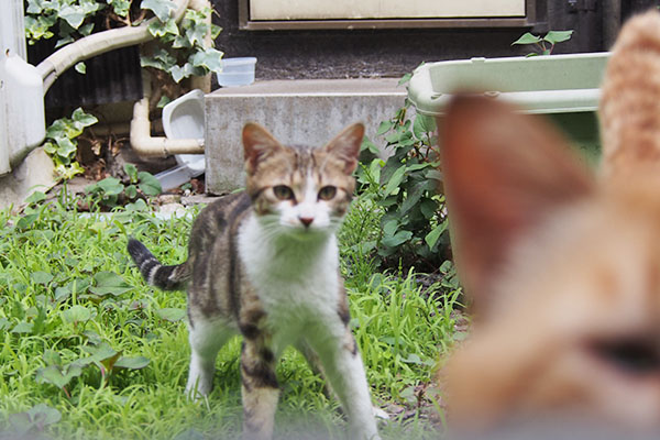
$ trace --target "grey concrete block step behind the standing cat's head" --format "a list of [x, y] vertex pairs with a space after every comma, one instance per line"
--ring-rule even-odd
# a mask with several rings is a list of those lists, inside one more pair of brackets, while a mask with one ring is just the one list
[[283, 144], [323, 146], [344, 127], [363, 122], [376, 141], [382, 121], [404, 106], [396, 78], [257, 81], [206, 96], [206, 187], [226, 194], [244, 186], [241, 131], [264, 125]]

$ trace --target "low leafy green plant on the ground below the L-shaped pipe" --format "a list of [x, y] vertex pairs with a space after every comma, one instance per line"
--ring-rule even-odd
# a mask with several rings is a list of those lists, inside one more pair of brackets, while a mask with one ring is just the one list
[[106, 177], [102, 180], [88, 185], [85, 193], [88, 205], [99, 205], [103, 208], [116, 208], [131, 204], [134, 209], [145, 209], [145, 197], [157, 196], [163, 191], [161, 183], [147, 172], [138, 172], [135, 165], [124, 164], [128, 182], [117, 177]]

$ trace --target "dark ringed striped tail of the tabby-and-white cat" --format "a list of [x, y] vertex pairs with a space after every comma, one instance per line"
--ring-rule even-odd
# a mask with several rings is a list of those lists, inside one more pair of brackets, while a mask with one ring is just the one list
[[129, 239], [127, 250], [144, 279], [152, 286], [163, 290], [180, 290], [190, 277], [187, 262], [165, 266], [135, 239]]

